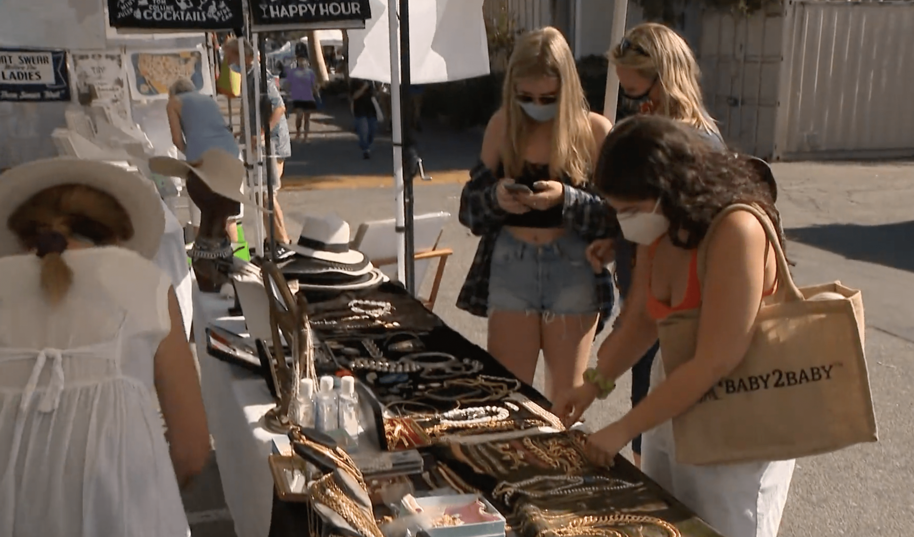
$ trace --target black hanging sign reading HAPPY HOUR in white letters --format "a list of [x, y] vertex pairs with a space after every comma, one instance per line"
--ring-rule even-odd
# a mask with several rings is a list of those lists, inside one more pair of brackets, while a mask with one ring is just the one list
[[370, 0], [251, 0], [254, 26], [338, 28], [371, 18]]

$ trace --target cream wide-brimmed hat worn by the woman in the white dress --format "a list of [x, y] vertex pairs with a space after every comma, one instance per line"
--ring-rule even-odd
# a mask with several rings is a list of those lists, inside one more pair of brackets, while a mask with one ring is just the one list
[[58, 157], [21, 164], [0, 174], [0, 257], [22, 254], [18, 237], [6, 225], [33, 195], [61, 184], [85, 184], [112, 195], [130, 216], [133, 237], [119, 244], [152, 259], [165, 233], [165, 212], [155, 184], [140, 174], [102, 161]]

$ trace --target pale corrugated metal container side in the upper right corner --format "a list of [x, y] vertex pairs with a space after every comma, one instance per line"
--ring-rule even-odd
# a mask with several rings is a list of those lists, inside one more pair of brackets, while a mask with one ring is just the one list
[[914, 155], [914, 2], [793, 0], [776, 155]]

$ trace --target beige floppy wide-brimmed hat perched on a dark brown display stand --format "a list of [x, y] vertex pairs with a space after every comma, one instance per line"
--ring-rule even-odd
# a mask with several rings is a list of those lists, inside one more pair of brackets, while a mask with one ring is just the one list
[[255, 204], [248, 195], [244, 194], [246, 177], [244, 163], [224, 149], [218, 147], [207, 149], [196, 166], [171, 157], [152, 157], [149, 159], [149, 170], [154, 174], [182, 179], [186, 179], [193, 172], [214, 193], [240, 204], [263, 210], [260, 205]]

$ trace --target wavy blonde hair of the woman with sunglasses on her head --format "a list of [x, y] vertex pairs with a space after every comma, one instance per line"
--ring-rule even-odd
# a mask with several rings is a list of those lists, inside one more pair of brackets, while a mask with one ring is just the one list
[[674, 30], [656, 23], [633, 27], [610, 50], [613, 65], [634, 69], [661, 89], [659, 113], [696, 129], [719, 134], [701, 98], [701, 69], [692, 49]]

